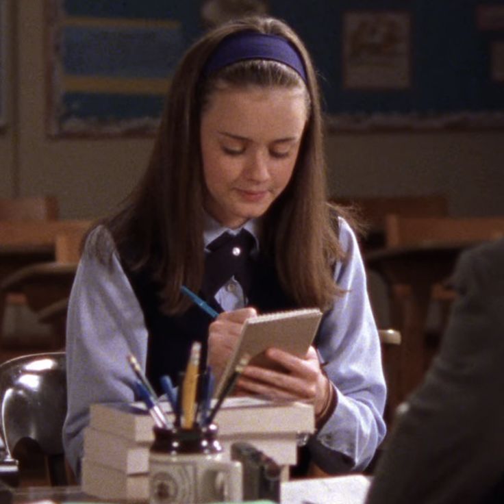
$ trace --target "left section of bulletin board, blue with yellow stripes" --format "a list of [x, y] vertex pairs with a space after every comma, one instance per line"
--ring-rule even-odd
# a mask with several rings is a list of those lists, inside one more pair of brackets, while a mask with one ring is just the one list
[[47, 18], [49, 136], [153, 134], [183, 51], [169, 8], [47, 0]]

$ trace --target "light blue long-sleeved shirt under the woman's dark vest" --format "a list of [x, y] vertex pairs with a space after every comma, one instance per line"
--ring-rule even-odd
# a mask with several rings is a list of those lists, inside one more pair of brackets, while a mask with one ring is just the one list
[[[258, 223], [244, 225], [257, 240]], [[207, 217], [205, 247], [224, 229]], [[238, 232], [235, 230], [234, 232]], [[112, 264], [104, 265], [84, 249], [68, 305], [66, 330], [68, 413], [63, 442], [68, 462], [79, 473], [83, 429], [92, 403], [134, 401], [134, 376], [127, 366], [133, 353], [145, 368], [147, 328], [138, 300], [125, 275], [112, 238]], [[340, 242], [346, 259], [336, 265], [335, 280], [343, 290], [320, 324], [318, 351], [337, 394], [337, 407], [309, 442], [312, 458], [327, 472], [338, 470], [340, 454], [349, 467], [362, 470], [383, 440], [386, 386], [379, 337], [366, 289], [366, 274], [357, 240], [340, 218]], [[225, 310], [246, 305], [240, 284], [231, 279], [216, 294]]]

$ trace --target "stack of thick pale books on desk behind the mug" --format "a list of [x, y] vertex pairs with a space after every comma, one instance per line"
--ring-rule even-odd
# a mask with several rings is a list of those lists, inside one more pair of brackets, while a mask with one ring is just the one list
[[[161, 404], [169, 416], [168, 403]], [[297, 463], [299, 436], [315, 428], [310, 404], [251, 397], [226, 399], [215, 423], [228, 457], [231, 444], [249, 442], [281, 466]], [[143, 404], [92, 405], [84, 431], [84, 492], [100, 499], [148, 499], [153, 440], [153, 419]]]

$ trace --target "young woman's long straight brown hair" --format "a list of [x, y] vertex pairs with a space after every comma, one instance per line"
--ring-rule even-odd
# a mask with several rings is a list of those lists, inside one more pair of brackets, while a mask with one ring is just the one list
[[[238, 62], [208, 77], [209, 55], [230, 34], [257, 31], [286, 38], [301, 55], [306, 84], [286, 65]], [[171, 82], [147, 171], [116, 214], [105, 220], [118, 247], [134, 244], [131, 268], [148, 266], [160, 282], [164, 310], [183, 312], [180, 286], [198, 291], [203, 278], [201, 112], [216, 87], [303, 86], [308, 118], [294, 173], [262, 219], [261, 248], [283, 289], [301, 306], [327, 309], [338, 294], [333, 265], [342, 259], [336, 218], [327, 205], [320, 92], [314, 66], [292, 29], [275, 18], [244, 18], [209, 31], [188, 49]]]

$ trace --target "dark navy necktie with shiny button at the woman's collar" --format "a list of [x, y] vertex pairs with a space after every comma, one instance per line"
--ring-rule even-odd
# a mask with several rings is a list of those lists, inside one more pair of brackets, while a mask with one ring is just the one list
[[208, 244], [205, 255], [205, 275], [201, 291], [205, 297], [214, 297], [216, 292], [235, 277], [244, 292], [249, 292], [253, 271], [253, 250], [255, 239], [246, 229], [236, 236], [229, 232], [221, 234]]

